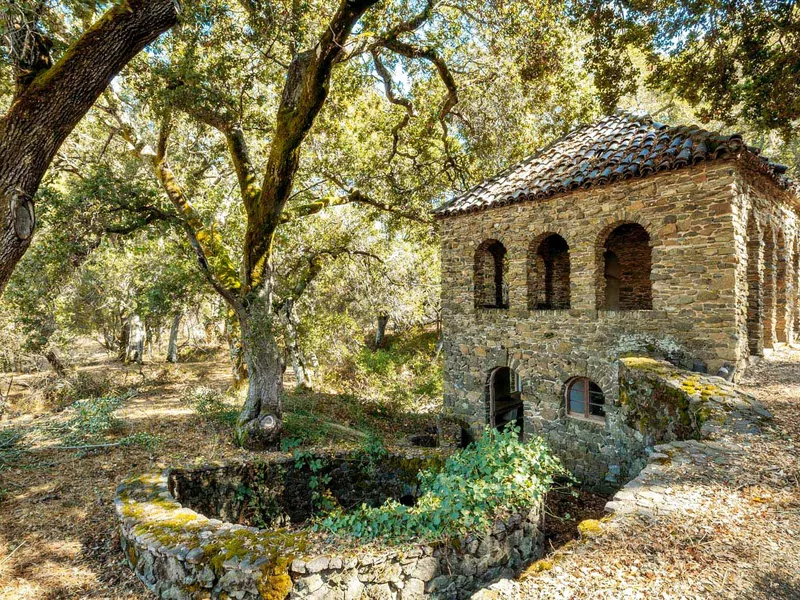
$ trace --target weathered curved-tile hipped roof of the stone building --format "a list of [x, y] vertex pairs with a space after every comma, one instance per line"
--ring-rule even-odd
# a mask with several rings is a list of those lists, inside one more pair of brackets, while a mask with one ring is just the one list
[[549, 198], [580, 188], [646, 177], [702, 161], [748, 160], [784, 189], [797, 186], [786, 167], [745, 146], [738, 134], [720, 135], [696, 126], [671, 127], [647, 115], [617, 112], [581, 125], [544, 150], [446, 202], [434, 212], [445, 217], [525, 200]]

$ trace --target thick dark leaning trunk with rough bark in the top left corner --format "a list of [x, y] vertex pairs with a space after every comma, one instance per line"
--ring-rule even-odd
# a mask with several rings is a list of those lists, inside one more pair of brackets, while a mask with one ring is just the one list
[[33, 198], [59, 147], [111, 79], [177, 19], [173, 0], [126, 0], [18, 88], [0, 119], [0, 294], [30, 245]]

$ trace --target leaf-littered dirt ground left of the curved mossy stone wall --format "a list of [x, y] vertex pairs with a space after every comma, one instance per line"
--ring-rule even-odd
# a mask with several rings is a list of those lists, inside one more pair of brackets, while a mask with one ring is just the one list
[[[36, 452], [0, 473], [0, 487], [8, 490], [0, 503], [0, 598], [150, 598], [122, 562], [116, 486], [133, 472], [247, 455], [180, 400], [189, 386], [227, 388], [231, 375], [224, 360], [181, 365], [167, 377], [162, 373], [164, 383], [153, 383], [163, 365], [140, 373], [103, 358], [94, 362], [85, 370], [113, 374], [138, 389], [118, 411], [125, 433], [149, 432], [162, 441], [153, 451], [132, 446], [82, 456]], [[21, 416], [3, 425], [19, 422], [31, 420]]]

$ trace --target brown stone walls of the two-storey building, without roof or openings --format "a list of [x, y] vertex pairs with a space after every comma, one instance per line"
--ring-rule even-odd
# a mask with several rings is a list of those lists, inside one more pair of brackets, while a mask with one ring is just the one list
[[[741, 163], [721, 160], [441, 219], [446, 410], [473, 430], [481, 428], [490, 375], [508, 366], [521, 378], [525, 433], [545, 436], [581, 480], [600, 487], [619, 485], [639, 462], [637, 452], [629, 456], [628, 441], [617, 438], [621, 356], [648, 354], [710, 373], [736, 366], [735, 374], [747, 363], [748, 292], [753, 289], [747, 283], [750, 214], [779, 228], [776, 244], [784, 248], [783, 254], [775, 251], [774, 269], [758, 267], [762, 287], [775, 290], [772, 306], [780, 306], [773, 309], [779, 316], [762, 318], [751, 329], [770, 331], [781, 322], [783, 337], [793, 335], [798, 313], [794, 265], [800, 243], [795, 203]], [[641, 231], [631, 225], [609, 240], [623, 224], [643, 228], [649, 246], [631, 238]], [[570, 308], [532, 310], [531, 297], [538, 292], [531, 285], [540, 279], [531, 276], [537, 269], [531, 244], [552, 234], [569, 246]], [[475, 305], [473, 260], [475, 249], [487, 239], [506, 249], [507, 309]], [[758, 252], [769, 255], [763, 240], [759, 243]], [[605, 305], [605, 253], [611, 246], [622, 255], [623, 271], [631, 272], [633, 265], [641, 273], [650, 261], [649, 280], [623, 276], [620, 298], [623, 309], [648, 302], [651, 309], [596, 308]], [[782, 283], [777, 276], [781, 264]], [[634, 300], [624, 300], [626, 294]], [[770, 312], [764, 302], [762, 298], [760, 313]], [[605, 422], [566, 414], [566, 385], [574, 377], [588, 377], [603, 390]]]

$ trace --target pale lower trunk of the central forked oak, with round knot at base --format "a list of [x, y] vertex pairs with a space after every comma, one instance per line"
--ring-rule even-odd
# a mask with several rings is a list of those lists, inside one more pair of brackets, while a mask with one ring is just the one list
[[247, 399], [236, 424], [236, 438], [251, 450], [277, 448], [283, 428], [283, 366], [269, 304], [266, 298], [259, 296], [237, 311], [248, 386]]

